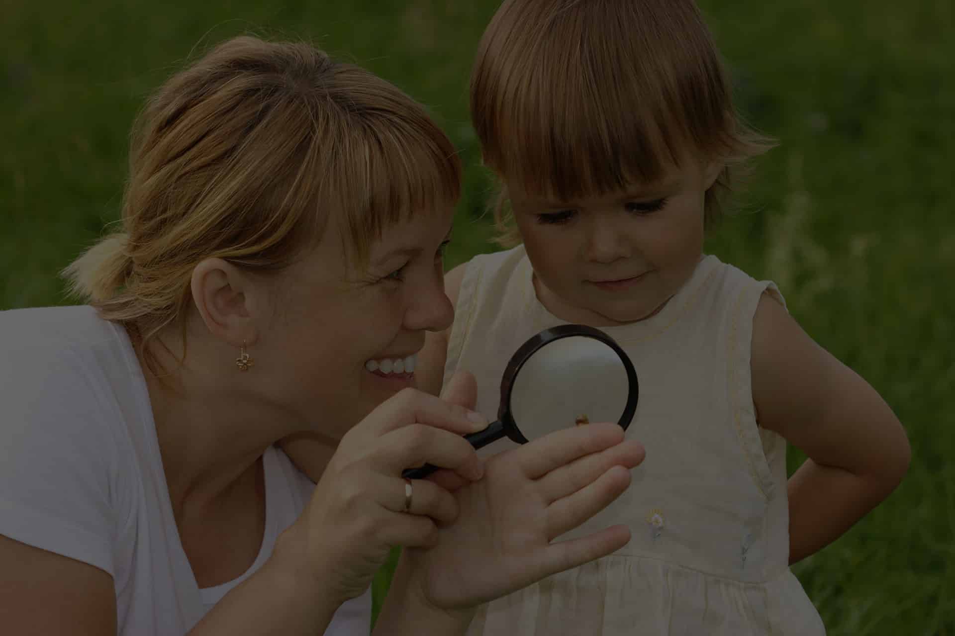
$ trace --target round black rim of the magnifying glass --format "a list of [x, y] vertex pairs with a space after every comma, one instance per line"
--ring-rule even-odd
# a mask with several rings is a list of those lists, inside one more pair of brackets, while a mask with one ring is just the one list
[[500, 379], [500, 407], [498, 409], [498, 419], [504, 425], [504, 432], [512, 440], [519, 444], [526, 444], [527, 438], [520, 433], [514, 416], [511, 414], [511, 391], [514, 388], [514, 378], [524, 366], [524, 363], [530, 359], [535, 351], [541, 349], [555, 340], [567, 338], [569, 336], [584, 336], [593, 338], [604, 343], [607, 347], [614, 350], [617, 356], [624, 363], [626, 370], [627, 386], [630, 391], [626, 394], [626, 406], [624, 413], [620, 416], [617, 424], [626, 431], [633, 420], [633, 414], [637, 412], [637, 402], [640, 398], [640, 382], [637, 379], [637, 371], [633, 368], [633, 362], [626, 351], [620, 348], [617, 341], [611, 338], [605, 331], [587, 327], [586, 325], [560, 325], [550, 329], [544, 329], [535, 336], [532, 336], [527, 342], [520, 346], [520, 349], [514, 352], [510, 362], [504, 369], [504, 374]]

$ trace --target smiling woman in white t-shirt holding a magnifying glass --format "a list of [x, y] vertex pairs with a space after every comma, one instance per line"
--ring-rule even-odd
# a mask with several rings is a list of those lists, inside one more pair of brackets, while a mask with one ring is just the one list
[[[626, 543], [549, 545], [626, 488], [643, 450], [619, 427], [482, 464], [473, 380], [411, 388], [452, 320], [458, 187], [420, 106], [306, 45], [237, 38], [172, 77], [121, 230], [67, 269], [90, 305], [0, 314], [5, 629], [364, 634], [401, 545], [376, 633], [462, 633]], [[301, 436], [317, 485], [275, 446]], [[425, 461], [448, 470], [401, 479]]]

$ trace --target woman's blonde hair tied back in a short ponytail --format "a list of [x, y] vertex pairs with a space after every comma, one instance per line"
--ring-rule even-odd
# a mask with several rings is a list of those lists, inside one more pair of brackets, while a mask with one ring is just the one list
[[[332, 214], [365, 264], [390, 223], [459, 196], [451, 141], [392, 84], [305, 43], [237, 37], [170, 78], [138, 118], [121, 230], [66, 267], [74, 293], [145, 345], [219, 257], [289, 265]], [[182, 321], [184, 332], [185, 321]]]

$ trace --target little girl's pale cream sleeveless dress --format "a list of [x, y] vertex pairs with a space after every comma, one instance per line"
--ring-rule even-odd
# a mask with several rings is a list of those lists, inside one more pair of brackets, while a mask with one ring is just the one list
[[[750, 347], [764, 292], [782, 302], [773, 283], [707, 256], [656, 315], [603, 328], [636, 368], [640, 399], [626, 435], [647, 457], [621, 498], [561, 540], [617, 523], [632, 539], [483, 606], [470, 635], [825, 633], [788, 566], [786, 442], [754, 417]], [[461, 283], [445, 381], [472, 371], [477, 410], [494, 419], [511, 355], [563, 322], [538, 301], [522, 247], [477, 256]], [[510, 446], [502, 439], [487, 451]]]

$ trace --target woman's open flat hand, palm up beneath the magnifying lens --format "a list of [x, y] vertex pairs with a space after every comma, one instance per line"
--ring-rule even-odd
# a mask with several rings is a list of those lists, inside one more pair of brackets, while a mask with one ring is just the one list
[[467, 609], [614, 552], [629, 541], [626, 526], [551, 541], [619, 497], [643, 458], [616, 424], [560, 431], [489, 458], [484, 477], [456, 492], [458, 517], [437, 531], [436, 545], [404, 551], [400, 580], [411, 589], [403, 594], [438, 612]]

